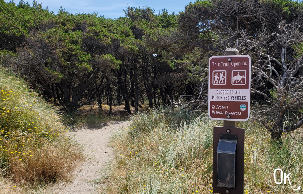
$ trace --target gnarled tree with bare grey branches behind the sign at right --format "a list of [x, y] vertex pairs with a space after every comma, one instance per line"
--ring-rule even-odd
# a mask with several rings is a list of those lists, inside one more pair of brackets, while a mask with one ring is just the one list
[[181, 48], [214, 55], [234, 47], [251, 56], [254, 119], [272, 139], [303, 124], [302, 15], [302, 3], [255, 0], [196, 1], [180, 13]]

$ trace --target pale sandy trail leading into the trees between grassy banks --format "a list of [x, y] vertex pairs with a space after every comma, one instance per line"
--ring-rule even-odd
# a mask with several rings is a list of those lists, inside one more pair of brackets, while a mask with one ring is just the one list
[[71, 132], [84, 145], [86, 161], [75, 170], [73, 182], [58, 182], [49, 186], [45, 193], [97, 194], [97, 188], [92, 181], [101, 178], [98, 170], [110, 162], [113, 156], [112, 148], [108, 146], [112, 132], [126, 128], [129, 124], [130, 122], [114, 121], [100, 128], [82, 128]]

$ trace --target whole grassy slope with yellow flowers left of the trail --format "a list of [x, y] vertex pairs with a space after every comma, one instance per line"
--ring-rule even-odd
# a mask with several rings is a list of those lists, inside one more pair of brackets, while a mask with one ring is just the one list
[[3, 69], [0, 90], [0, 193], [67, 180], [83, 154], [62, 116]]

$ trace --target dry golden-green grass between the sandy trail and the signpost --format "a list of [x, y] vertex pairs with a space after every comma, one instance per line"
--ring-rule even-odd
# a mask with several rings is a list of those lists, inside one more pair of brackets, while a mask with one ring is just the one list
[[135, 115], [129, 129], [113, 136], [116, 156], [102, 192], [210, 192], [212, 139], [209, 130], [197, 130], [208, 123], [189, 125], [187, 114], [163, 112]]

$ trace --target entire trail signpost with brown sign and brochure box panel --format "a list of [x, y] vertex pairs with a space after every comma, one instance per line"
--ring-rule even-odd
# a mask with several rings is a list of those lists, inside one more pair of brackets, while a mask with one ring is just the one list
[[250, 116], [251, 58], [235, 48], [212, 56], [208, 66], [208, 116], [223, 120], [214, 127], [213, 192], [242, 194], [244, 189], [244, 128]]

